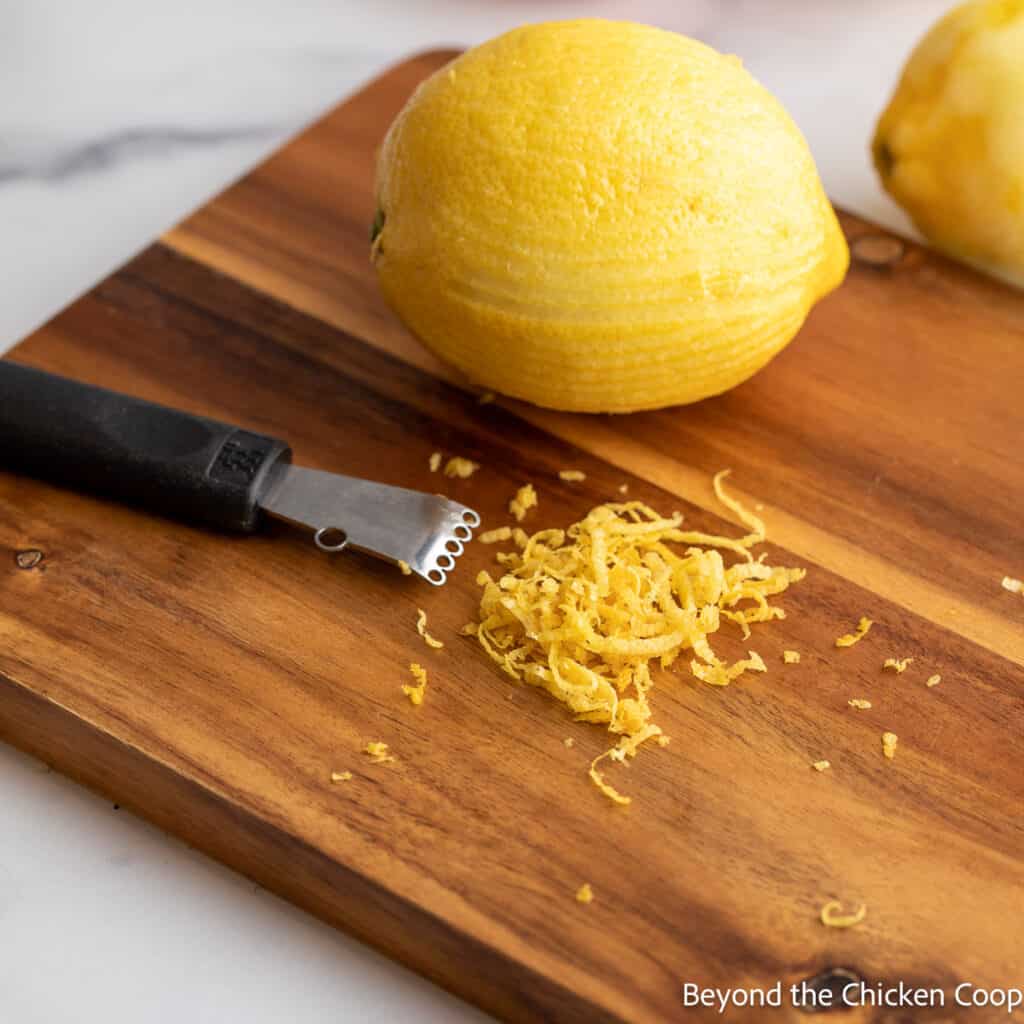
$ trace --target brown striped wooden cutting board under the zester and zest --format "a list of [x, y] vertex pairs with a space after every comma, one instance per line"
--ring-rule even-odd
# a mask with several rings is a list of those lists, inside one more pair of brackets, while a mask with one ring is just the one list
[[[286, 437], [306, 465], [443, 487], [488, 526], [532, 480], [538, 528], [625, 482], [734, 529], [710, 484], [731, 466], [773, 560], [809, 569], [751, 641], [769, 672], [662, 679], [673, 742], [609, 770], [634, 797], [616, 807], [586, 774], [607, 735], [456, 636], [494, 549], [437, 591], [285, 528], [215, 536], [0, 473], [0, 736], [509, 1020], [714, 1020], [684, 983], [835, 966], [945, 990], [913, 1019], [955, 1019], [961, 982], [1020, 984], [1024, 599], [999, 581], [1024, 575], [1024, 299], [845, 216], [849, 280], [731, 393], [628, 418], [480, 404], [368, 259], [375, 147], [450, 56], [370, 85], [12, 357]], [[482, 469], [443, 480], [435, 450]], [[883, 673], [891, 655], [914, 662]], [[359, 753], [375, 739], [393, 765]], [[866, 921], [822, 927], [833, 897]]]

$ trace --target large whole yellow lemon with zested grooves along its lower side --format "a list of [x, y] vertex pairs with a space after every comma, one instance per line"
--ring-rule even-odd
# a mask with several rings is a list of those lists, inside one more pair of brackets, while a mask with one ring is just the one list
[[735, 57], [629, 23], [524, 26], [391, 126], [384, 295], [482, 387], [554, 409], [695, 401], [763, 367], [849, 254], [803, 137]]

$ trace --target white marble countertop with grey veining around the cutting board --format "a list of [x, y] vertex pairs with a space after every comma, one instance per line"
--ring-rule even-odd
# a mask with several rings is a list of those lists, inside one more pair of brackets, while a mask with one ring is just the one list
[[[907, 231], [874, 118], [947, 0], [0, 0], [0, 352], [414, 50], [632, 17], [738, 53], [831, 197]], [[482, 1015], [0, 744], [0, 1020]]]

